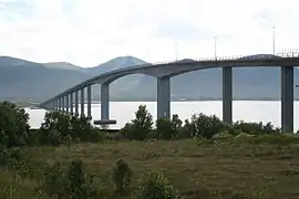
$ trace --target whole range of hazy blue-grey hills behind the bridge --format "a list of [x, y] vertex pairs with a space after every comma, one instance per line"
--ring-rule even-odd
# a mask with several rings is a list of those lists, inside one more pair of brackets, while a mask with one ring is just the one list
[[[258, 56], [258, 55], [256, 55]], [[255, 59], [247, 56], [246, 59]], [[144, 64], [133, 56], [120, 56], [95, 67], [83, 69], [71, 63], [34, 63], [0, 56], [0, 100], [42, 102], [94, 75], [115, 69]], [[295, 71], [295, 81], [299, 71]], [[182, 74], [172, 78], [173, 100], [216, 100], [221, 97], [221, 71], [210, 69]], [[93, 87], [93, 100], [100, 98], [100, 86]], [[295, 93], [297, 98], [298, 94]], [[234, 97], [238, 100], [279, 100], [278, 67], [234, 69]], [[111, 100], [154, 101], [156, 80], [147, 75], [128, 75], [111, 85]]]

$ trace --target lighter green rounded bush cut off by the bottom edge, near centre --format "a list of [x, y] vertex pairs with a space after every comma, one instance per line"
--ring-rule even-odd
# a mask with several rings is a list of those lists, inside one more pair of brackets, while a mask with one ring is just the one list
[[152, 171], [147, 179], [142, 182], [141, 196], [142, 199], [178, 199], [181, 198], [169, 181], [161, 172]]

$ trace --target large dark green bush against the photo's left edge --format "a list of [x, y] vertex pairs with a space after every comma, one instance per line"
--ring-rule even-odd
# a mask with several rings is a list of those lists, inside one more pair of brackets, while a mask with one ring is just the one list
[[6, 147], [22, 146], [29, 133], [29, 115], [23, 108], [10, 102], [0, 103], [0, 145]]

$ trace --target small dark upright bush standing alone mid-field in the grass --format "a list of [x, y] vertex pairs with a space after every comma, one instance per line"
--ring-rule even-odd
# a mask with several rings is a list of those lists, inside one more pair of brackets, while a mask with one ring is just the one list
[[113, 168], [112, 179], [115, 191], [123, 191], [132, 181], [133, 171], [123, 159], [117, 160]]

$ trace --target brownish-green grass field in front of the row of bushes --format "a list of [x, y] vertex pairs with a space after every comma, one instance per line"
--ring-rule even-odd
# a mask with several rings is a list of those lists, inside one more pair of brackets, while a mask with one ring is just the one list
[[[132, 189], [150, 170], [162, 170], [187, 199], [197, 198], [299, 198], [299, 145], [292, 142], [221, 140], [198, 144], [193, 139], [173, 142], [110, 142], [68, 147], [32, 147], [29, 156], [40, 164], [83, 158], [87, 172], [96, 172], [99, 185], [112, 192], [110, 171], [123, 158], [133, 169]], [[0, 171], [0, 198], [37, 198], [35, 180], [13, 179], [16, 172]], [[9, 192], [9, 191], [8, 191]], [[6, 193], [7, 195], [7, 193]], [[239, 196], [239, 197], [238, 197]], [[132, 196], [110, 198], [132, 198]]]

